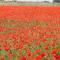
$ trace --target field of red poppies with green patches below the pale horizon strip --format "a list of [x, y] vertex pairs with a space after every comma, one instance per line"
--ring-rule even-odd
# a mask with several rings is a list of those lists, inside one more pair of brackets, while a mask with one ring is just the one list
[[60, 60], [60, 7], [0, 6], [0, 60]]

